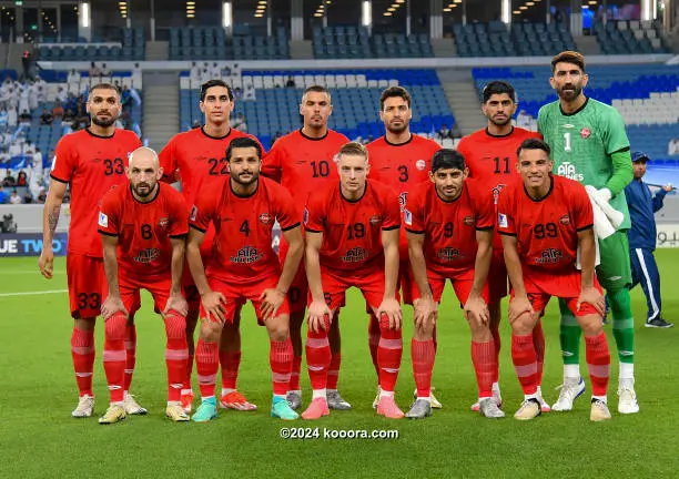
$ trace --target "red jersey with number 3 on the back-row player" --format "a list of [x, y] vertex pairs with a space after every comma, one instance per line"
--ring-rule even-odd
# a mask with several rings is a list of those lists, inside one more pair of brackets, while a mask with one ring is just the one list
[[[371, 172], [368, 177], [377, 180], [398, 195], [401, 212], [407, 201], [408, 191], [429, 180], [432, 156], [440, 145], [433, 140], [412, 134], [411, 140], [393, 144], [381, 136], [367, 145]], [[408, 240], [405, 230], [399, 240], [401, 261], [408, 259]]]

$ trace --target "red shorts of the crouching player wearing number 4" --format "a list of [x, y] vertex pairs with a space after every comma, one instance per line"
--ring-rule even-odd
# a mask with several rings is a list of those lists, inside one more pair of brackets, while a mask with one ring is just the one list
[[[252, 305], [255, 308], [255, 314], [257, 316], [257, 324], [260, 326], [264, 326], [264, 318], [262, 317], [262, 302], [260, 300], [260, 296], [264, 292], [264, 289], [275, 288], [278, 284], [278, 276], [266, 276], [261, 279], [256, 279], [254, 282], [225, 282], [220, 278], [207, 277], [207, 284], [213, 292], [219, 292], [224, 295], [226, 298], [226, 307], [224, 310], [224, 318], [226, 323], [233, 323], [234, 318], [240, 314], [241, 307], [249, 299], [252, 302]], [[278, 308], [278, 313], [276, 317], [282, 315], [290, 314], [290, 306], [287, 304], [287, 298], [284, 298], [283, 304]], [[203, 305], [201, 304], [201, 317], [205, 317], [205, 310], [203, 309]], [[212, 320], [216, 320], [216, 318], [211, 318]]]

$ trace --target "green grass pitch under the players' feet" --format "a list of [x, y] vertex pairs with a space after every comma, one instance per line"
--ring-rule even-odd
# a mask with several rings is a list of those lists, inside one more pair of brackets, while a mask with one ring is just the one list
[[[679, 252], [658, 251], [663, 279], [663, 309], [679, 319], [673, 272]], [[64, 262], [55, 277], [43, 279], [37, 258], [0, 261], [0, 478], [93, 477], [670, 477], [679, 468], [675, 438], [679, 426], [676, 365], [678, 329], [643, 327], [646, 303], [632, 292], [637, 319], [637, 393], [641, 411], [617, 414], [618, 361], [610, 326], [611, 421], [590, 424], [589, 401], [580, 398], [569, 414], [550, 412], [529, 424], [511, 418], [521, 394], [509, 355], [509, 328], [503, 325], [500, 385], [508, 417], [488, 420], [469, 411], [476, 397], [469, 357], [469, 333], [448, 287], [442, 303], [438, 355], [433, 384], [444, 409], [422, 421], [387, 420], [371, 407], [375, 373], [367, 347], [364, 303], [352, 291], [343, 310], [343, 364], [340, 389], [352, 411], [328, 418], [283, 422], [268, 416], [271, 383], [268, 340], [245, 309], [243, 360], [239, 388], [259, 405], [256, 412], [220, 411], [210, 424], [171, 424], [164, 419], [164, 330], [150, 297], [138, 316], [138, 364], [132, 391], [149, 408], [114, 426], [97, 422], [108, 405], [102, 368], [103, 328], [98, 326], [94, 390], [95, 416], [72, 419], [77, 389], [70, 344], [71, 320], [65, 293], [11, 296], [8, 293], [65, 289]], [[545, 317], [547, 351], [544, 395], [551, 404], [560, 383], [556, 305]], [[414, 389], [409, 359], [412, 309], [405, 309], [405, 351], [397, 402], [409, 406]], [[584, 364], [585, 347], [581, 347]], [[586, 374], [586, 366], [582, 366]], [[303, 368], [304, 404], [310, 400]], [[195, 389], [195, 388], [194, 388]], [[195, 389], [197, 390], [197, 389]], [[589, 395], [589, 384], [588, 391]], [[397, 429], [398, 439], [284, 440], [282, 427]]]

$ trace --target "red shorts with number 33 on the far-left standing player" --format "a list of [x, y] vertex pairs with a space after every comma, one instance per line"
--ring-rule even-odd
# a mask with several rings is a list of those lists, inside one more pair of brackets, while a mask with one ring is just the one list
[[101, 304], [109, 294], [103, 259], [78, 253], [67, 255], [69, 304], [73, 319], [92, 318], [101, 314]]

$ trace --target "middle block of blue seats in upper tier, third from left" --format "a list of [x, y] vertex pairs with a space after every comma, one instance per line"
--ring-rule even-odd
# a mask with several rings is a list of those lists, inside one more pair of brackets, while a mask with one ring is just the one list
[[376, 33], [365, 27], [314, 27], [313, 51], [316, 59], [423, 58], [434, 57], [426, 34]]

